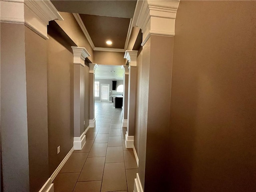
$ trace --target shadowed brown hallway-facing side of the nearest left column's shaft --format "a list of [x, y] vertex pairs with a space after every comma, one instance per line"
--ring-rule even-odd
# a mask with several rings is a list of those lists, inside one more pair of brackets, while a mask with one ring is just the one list
[[30, 191], [48, 180], [46, 40], [25, 28]]

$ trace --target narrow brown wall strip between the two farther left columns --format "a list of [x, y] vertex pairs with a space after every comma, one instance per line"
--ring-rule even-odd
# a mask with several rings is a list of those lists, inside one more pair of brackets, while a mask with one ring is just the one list
[[89, 107], [90, 107], [90, 82], [89, 64], [85, 61], [84, 67], [84, 130], [89, 126]]

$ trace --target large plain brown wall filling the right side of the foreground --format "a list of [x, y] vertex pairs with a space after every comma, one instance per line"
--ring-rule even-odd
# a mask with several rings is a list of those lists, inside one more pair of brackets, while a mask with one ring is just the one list
[[170, 114], [172, 191], [256, 191], [256, 2], [181, 1]]

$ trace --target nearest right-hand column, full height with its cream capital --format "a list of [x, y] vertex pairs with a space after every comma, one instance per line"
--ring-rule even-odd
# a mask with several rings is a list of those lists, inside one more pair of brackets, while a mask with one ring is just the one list
[[168, 132], [178, 4], [176, 0], [138, 1], [134, 13], [133, 23], [143, 33], [139, 170], [135, 192], [169, 191]]

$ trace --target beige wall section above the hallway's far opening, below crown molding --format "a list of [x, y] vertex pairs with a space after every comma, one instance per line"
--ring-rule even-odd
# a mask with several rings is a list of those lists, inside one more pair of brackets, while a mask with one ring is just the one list
[[94, 63], [101, 65], [125, 65], [123, 52], [94, 51]]

